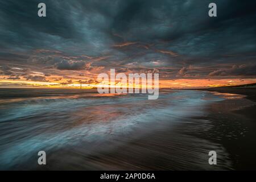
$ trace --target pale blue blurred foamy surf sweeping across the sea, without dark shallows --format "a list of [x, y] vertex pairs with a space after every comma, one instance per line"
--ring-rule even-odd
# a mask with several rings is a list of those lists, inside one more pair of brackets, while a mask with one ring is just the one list
[[[86, 95], [87, 94], [87, 95]], [[193, 90], [96, 97], [95, 93], [9, 102], [0, 108], [1, 168], [29, 160], [36, 151], [58, 150], [83, 142], [104, 142], [145, 127], [171, 127], [182, 118], [204, 114], [204, 106], [223, 98]], [[207, 98], [207, 100], [205, 100]], [[88, 149], [89, 150], [89, 149]]]

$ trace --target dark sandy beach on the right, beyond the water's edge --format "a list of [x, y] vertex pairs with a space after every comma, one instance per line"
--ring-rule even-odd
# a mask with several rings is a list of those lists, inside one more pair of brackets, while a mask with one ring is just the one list
[[[205, 138], [216, 140], [226, 148], [236, 170], [256, 170], [256, 89], [211, 88], [210, 92], [242, 94], [245, 98], [216, 102], [208, 115], [214, 124], [212, 134]], [[218, 114], [216, 114], [218, 113]], [[218, 131], [218, 133], [214, 132]]]

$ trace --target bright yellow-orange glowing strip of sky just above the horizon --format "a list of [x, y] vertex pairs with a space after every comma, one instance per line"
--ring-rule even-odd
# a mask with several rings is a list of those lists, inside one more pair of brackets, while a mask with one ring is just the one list
[[[232, 86], [251, 84], [256, 82], [256, 79], [176, 79], [176, 80], [159, 80], [159, 88], [201, 88], [201, 87], [216, 87], [216, 86]], [[128, 84], [121, 85], [119, 83], [92, 83], [81, 84], [82, 89], [90, 89], [97, 87], [123, 86], [123, 88], [139, 88], [141, 85], [129, 86]], [[79, 80], [74, 80], [71, 84], [61, 84], [60, 82], [51, 81], [28, 81], [28, 80], [6, 80], [0, 79], [0, 88], [74, 88], [79, 89]], [[143, 86], [146, 88], [146, 86]]]

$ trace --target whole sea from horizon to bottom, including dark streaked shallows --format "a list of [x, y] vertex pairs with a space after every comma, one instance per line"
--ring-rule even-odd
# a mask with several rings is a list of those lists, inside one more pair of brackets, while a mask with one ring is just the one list
[[[98, 94], [97, 90], [0, 89], [0, 169], [229, 169], [225, 148], [187, 131], [207, 131], [204, 91]], [[196, 119], [197, 118], [197, 119]], [[38, 165], [46, 151], [47, 166]], [[218, 151], [217, 167], [208, 152]]]

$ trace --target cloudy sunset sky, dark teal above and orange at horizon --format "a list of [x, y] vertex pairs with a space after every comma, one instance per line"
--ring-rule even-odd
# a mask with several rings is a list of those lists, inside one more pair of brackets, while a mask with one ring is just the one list
[[0, 0], [0, 88], [89, 87], [111, 68], [171, 88], [256, 82], [255, 19], [256, 1]]

